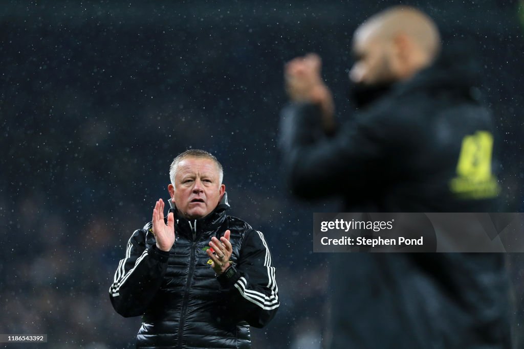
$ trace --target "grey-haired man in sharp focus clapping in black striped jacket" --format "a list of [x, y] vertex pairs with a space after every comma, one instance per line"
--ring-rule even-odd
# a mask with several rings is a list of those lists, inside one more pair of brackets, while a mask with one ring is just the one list
[[264, 235], [227, 216], [222, 165], [188, 150], [170, 167], [171, 208], [129, 239], [110, 288], [115, 310], [143, 316], [137, 348], [250, 348], [280, 305]]

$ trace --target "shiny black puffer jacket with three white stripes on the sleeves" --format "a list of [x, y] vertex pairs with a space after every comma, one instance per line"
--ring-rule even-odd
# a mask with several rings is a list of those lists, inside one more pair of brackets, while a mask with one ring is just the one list
[[[203, 219], [188, 221], [172, 207], [170, 252], [157, 249], [151, 222], [129, 239], [110, 298], [122, 316], [143, 315], [137, 348], [248, 349], [249, 325], [263, 327], [275, 316], [280, 302], [264, 235], [227, 216], [228, 208], [226, 194]], [[205, 252], [227, 229], [237, 270], [230, 279], [215, 277]]]

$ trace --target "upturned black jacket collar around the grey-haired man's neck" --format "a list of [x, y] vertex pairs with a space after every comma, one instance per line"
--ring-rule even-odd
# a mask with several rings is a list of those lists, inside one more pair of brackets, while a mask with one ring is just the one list
[[203, 232], [211, 233], [219, 229], [226, 219], [226, 211], [231, 208], [227, 202], [227, 193], [224, 192], [219, 204], [209, 213], [209, 215], [199, 219], [188, 220], [181, 215], [171, 199], [168, 199], [168, 202], [171, 206], [169, 212], [174, 213], [175, 233], [183, 233], [188, 237], [192, 237], [193, 240], [200, 237]]

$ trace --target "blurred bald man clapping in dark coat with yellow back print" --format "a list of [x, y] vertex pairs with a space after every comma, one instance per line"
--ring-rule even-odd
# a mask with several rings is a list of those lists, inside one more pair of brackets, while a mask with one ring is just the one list
[[[337, 126], [321, 61], [285, 67], [280, 146], [292, 193], [350, 212], [494, 212], [492, 115], [475, 65], [441, 47], [427, 15], [392, 7], [354, 35], [359, 110]], [[449, 53], [449, 54], [448, 54]], [[509, 348], [503, 254], [333, 253], [325, 346]]]

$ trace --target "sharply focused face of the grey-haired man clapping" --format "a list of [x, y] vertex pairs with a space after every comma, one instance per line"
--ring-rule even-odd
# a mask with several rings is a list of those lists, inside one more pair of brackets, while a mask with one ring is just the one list
[[219, 204], [225, 192], [220, 184], [216, 163], [201, 157], [186, 157], [177, 165], [177, 172], [169, 194], [177, 209], [189, 219], [207, 216]]

